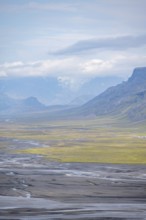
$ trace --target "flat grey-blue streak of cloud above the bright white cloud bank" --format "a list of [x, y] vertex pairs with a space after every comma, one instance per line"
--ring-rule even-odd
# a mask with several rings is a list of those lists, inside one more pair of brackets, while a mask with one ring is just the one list
[[118, 36], [79, 41], [65, 49], [54, 52], [54, 55], [74, 55], [95, 49], [125, 50], [146, 45], [146, 35]]

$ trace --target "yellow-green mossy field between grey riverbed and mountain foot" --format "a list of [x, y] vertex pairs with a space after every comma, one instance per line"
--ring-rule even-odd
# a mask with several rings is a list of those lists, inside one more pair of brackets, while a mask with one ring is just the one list
[[38, 154], [59, 162], [146, 164], [146, 126], [114, 118], [3, 123], [0, 137], [37, 141], [39, 146], [15, 150], [10, 142], [1, 149]]

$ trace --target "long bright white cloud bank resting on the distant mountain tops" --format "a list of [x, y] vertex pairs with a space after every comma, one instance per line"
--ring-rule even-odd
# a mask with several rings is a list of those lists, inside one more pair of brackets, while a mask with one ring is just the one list
[[126, 76], [137, 66], [145, 66], [146, 56], [115, 52], [112, 56], [63, 57], [33, 62], [7, 62], [0, 64], [0, 77], [53, 76], [73, 86], [78, 79], [95, 76]]

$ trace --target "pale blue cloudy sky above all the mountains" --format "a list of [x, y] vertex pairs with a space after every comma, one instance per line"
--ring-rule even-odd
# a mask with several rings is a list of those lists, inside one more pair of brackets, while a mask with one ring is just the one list
[[0, 0], [0, 77], [120, 76], [146, 66], [145, 0]]

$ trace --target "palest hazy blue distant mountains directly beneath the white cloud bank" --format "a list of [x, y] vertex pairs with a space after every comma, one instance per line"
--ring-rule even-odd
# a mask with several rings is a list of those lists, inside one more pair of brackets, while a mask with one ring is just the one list
[[82, 105], [121, 81], [119, 77], [96, 77], [74, 89], [56, 77], [3, 77], [0, 92], [13, 99], [36, 97], [47, 105]]

